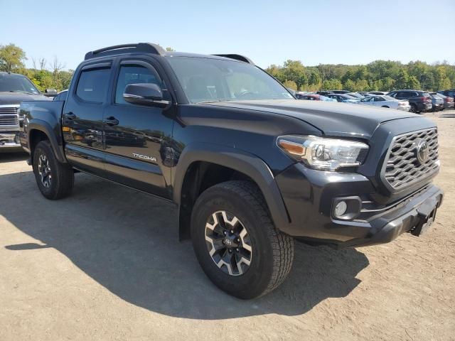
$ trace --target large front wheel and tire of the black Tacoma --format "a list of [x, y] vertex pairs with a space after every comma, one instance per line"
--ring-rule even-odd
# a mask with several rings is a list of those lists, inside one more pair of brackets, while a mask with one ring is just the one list
[[294, 239], [275, 229], [262, 193], [248, 181], [220, 183], [198, 197], [191, 239], [208, 278], [243, 299], [277, 288], [294, 259]]

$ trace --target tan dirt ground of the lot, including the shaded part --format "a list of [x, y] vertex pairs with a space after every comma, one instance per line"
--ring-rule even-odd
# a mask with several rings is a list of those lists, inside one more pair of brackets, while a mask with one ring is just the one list
[[50, 202], [0, 154], [0, 340], [455, 340], [455, 111], [439, 125], [444, 205], [427, 234], [336, 251], [296, 244], [287, 281], [215, 288], [176, 209], [88, 175]]

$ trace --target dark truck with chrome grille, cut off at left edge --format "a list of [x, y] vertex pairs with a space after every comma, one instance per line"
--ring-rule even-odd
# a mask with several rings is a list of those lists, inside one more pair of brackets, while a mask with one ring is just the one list
[[22, 151], [19, 141], [19, 104], [27, 100], [46, 100], [27, 77], [0, 72], [0, 152]]

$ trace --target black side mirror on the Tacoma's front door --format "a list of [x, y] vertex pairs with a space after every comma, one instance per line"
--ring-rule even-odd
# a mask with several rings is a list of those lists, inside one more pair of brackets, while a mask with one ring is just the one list
[[163, 99], [161, 88], [154, 83], [130, 84], [124, 90], [123, 99], [131, 104], [166, 108], [171, 102]]

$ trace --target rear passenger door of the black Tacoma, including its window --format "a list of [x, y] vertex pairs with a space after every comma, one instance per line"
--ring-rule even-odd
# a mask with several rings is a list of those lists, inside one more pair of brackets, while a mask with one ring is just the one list
[[104, 176], [102, 117], [112, 76], [112, 63], [82, 66], [68, 93], [62, 126], [65, 153], [75, 168]]

